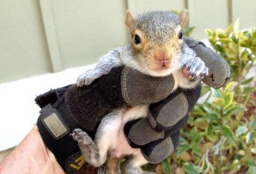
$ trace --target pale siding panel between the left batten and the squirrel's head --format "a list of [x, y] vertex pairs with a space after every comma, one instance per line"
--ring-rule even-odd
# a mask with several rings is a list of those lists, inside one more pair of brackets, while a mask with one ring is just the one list
[[125, 5], [120, 0], [52, 0], [64, 68], [96, 63], [113, 47], [127, 44]]

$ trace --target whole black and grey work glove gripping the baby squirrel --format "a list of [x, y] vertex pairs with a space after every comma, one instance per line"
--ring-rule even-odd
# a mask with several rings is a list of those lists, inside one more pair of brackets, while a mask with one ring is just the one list
[[[192, 41], [191, 43], [188, 45], [192, 49], [195, 49], [197, 55], [204, 52], [206, 66], [208, 66], [212, 74], [212, 76], [206, 77], [203, 81], [212, 87], [221, 87], [224, 85], [230, 74], [225, 61], [213, 53], [212, 50], [201, 46], [203, 44], [200, 42]], [[203, 57], [200, 58], [204, 60]], [[221, 71], [220, 68], [224, 70]], [[178, 146], [179, 130], [187, 122], [187, 114], [199, 96], [200, 87], [195, 90], [181, 91], [180, 93], [170, 95], [170, 91], [173, 88], [171, 85], [173, 84], [173, 76], [166, 76], [166, 79], [140, 76], [141, 74], [138, 71], [133, 71], [129, 68], [113, 68], [110, 74], [96, 79], [89, 86], [77, 87], [74, 84], [59, 90], [53, 90], [47, 92], [47, 95], [40, 95], [37, 98], [37, 103], [40, 107], [44, 107], [48, 103], [52, 104], [54, 109], [59, 109], [61, 112], [60, 116], [63, 117], [62, 119], [67, 121], [73, 120], [73, 126], [67, 125], [69, 130], [80, 127], [86, 130], [86, 132], [91, 131], [92, 136], [96, 132], [102, 117], [114, 108], [127, 104], [135, 106], [140, 103], [154, 103], [150, 106], [148, 118], [127, 123], [125, 125], [125, 133], [131, 145], [133, 143], [136, 146], [140, 146], [148, 162], [159, 162], [165, 159], [167, 155], [172, 154], [173, 150]], [[148, 95], [148, 93], [152, 93], [152, 95]], [[61, 96], [59, 96], [60, 94]], [[169, 95], [170, 97], [168, 97]], [[138, 96], [140, 97], [138, 98]], [[168, 100], [165, 98], [168, 98]], [[181, 108], [184, 111], [181, 111]], [[178, 116], [176, 117], [176, 115]], [[71, 159], [67, 162], [66, 158], [78, 152], [79, 149], [77, 146], [77, 149], [73, 147], [75, 142], [72, 141], [68, 133], [59, 140], [55, 140], [52, 135], [46, 133], [49, 130], [47, 127], [44, 128], [45, 124], [41, 123], [42, 119], [40, 117], [37, 124], [40, 125], [39, 132], [42, 135], [42, 139], [46, 146], [48, 146], [48, 149], [56, 155], [56, 159], [61, 167], [64, 168], [65, 165], [72, 162]], [[143, 127], [145, 128], [144, 130], [154, 131], [154, 134], [152, 133], [151, 136], [143, 134], [138, 136], [137, 131], [135, 132], [134, 130], [145, 133], [142, 132]], [[58, 126], [53, 127], [53, 130], [55, 128], [58, 130]], [[144, 140], [138, 141], [136, 140], [136, 136], [143, 137]], [[70, 144], [69, 152], [67, 152], [67, 147], [62, 146], [67, 143]], [[163, 149], [165, 146], [170, 147], [170, 149]], [[162, 151], [159, 151], [159, 149], [162, 149]]]

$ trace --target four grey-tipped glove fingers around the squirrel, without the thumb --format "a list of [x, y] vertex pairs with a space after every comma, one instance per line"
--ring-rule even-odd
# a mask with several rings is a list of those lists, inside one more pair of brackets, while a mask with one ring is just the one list
[[[209, 75], [203, 82], [210, 87], [222, 87], [230, 77], [226, 61], [201, 41], [187, 37], [184, 41], [209, 68]], [[187, 124], [189, 111], [199, 96], [200, 86], [194, 90], [179, 89], [166, 99], [151, 104], [147, 118], [125, 125], [127, 141], [132, 147], [140, 148], [148, 162], [161, 162], [178, 146], [179, 130]]]

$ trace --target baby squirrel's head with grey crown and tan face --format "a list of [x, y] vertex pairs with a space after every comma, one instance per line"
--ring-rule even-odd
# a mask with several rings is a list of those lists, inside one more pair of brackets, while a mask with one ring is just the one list
[[127, 11], [125, 24], [129, 29], [135, 62], [152, 76], [166, 76], [182, 66], [182, 28], [187, 23], [186, 10], [146, 12], [137, 18]]

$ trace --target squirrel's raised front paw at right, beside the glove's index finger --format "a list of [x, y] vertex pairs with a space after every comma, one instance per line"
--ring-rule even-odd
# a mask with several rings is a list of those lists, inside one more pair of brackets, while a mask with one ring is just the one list
[[193, 79], [197, 76], [203, 78], [208, 75], [208, 68], [205, 66], [203, 60], [195, 57], [187, 60], [187, 63], [184, 66], [183, 73], [189, 79]]

